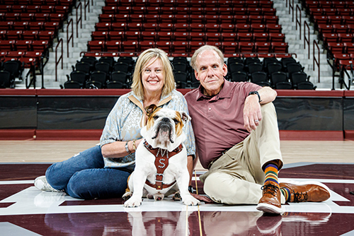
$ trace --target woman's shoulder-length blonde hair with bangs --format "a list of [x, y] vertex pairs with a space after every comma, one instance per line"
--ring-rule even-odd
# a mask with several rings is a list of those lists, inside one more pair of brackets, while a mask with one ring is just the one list
[[[175, 79], [173, 77], [173, 71], [169, 57], [167, 57], [166, 52], [158, 48], [150, 48], [142, 52], [137, 59], [135, 64], [135, 71], [132, 78], [132, 91], [137, 95], [138, 98], [144, 100], [144, 86], [142, 85], [142, 72], [143, 69], [148, 66], [148, 62], [154, 59], [161, 60], [163, 69], [162, 73], [164, 75], [164, 87], [162, 88], [161, 97], [168, 95], [176, 88]], [[154, 61], [152, 63], [154, 63]]]

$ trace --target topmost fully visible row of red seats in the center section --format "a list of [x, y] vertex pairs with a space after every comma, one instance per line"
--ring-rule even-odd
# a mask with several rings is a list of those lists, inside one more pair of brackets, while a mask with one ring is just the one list
[[276, 10], [273, 6], [263, 7], [161, 7], [161, 8], [134, 8], [134, 7], [117, 7], [104, 8], [103, 13], [108, 14], [179, 14], [179, 15], [268, 15], [275, 16]]

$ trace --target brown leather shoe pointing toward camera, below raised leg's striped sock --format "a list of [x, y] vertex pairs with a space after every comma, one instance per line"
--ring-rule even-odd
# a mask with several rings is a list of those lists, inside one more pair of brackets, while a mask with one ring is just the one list
[[263, 187], [263, 196], [258, 202], [257, 210], [266, 213], [281, 214], [282, 205], [280, 204], [280, 189], [272, 182], [265, 182]]

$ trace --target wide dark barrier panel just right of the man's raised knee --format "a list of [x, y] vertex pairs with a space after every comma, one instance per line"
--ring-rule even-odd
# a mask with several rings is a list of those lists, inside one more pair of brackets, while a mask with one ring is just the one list
[[281, 130], [343, 130], [343, 98], [277, 98]]

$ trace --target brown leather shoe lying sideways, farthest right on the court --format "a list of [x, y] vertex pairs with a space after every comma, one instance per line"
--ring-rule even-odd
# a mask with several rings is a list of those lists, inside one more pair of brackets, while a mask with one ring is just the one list
[[280, 188], [290, 189], [290, 202], [326, 201], [331, 197], [330, 190], [320, 182], [280, 183]]

